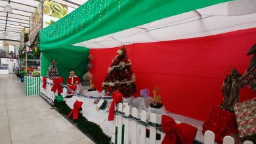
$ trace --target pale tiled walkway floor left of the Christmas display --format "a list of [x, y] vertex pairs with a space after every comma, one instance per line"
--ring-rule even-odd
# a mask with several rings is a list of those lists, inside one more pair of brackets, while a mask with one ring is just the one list
[[0, 75], [0, 144], [93, 143], [39, 96], [26, 96], [16, 75]]

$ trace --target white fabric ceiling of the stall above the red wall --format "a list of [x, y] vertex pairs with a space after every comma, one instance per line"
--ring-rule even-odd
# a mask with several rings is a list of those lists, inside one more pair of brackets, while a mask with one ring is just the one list
[[256, 0], [235, 0], [163, 18], [88, 41], [74, 44], [87, 48], [112, 48], [216, 35], [256, 27]]

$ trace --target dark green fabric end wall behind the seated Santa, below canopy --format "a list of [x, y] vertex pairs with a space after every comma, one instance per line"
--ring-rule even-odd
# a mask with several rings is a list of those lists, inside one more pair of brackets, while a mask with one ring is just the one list
[[52, 60], [56, 60], [58, 73], [64, 78], [70, 75], [70, 70], [74, 69], [75, 75], [80, 79], [85, 74], [85, 67], [88, 63], [89, 48], [79, 46], [58, 47], [52, 50], [45, 50], [41, 55], [41, 75], [47, 76], [48, 67]]

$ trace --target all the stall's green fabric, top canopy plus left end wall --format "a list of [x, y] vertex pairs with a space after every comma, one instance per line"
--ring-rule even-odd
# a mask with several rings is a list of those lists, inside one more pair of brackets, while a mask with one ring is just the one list
[[81, 78], [89, 49], [70, 46], [191, 10], [230, 0], [89, 0], [40, 31], [41, 75], [55, 59], [61, 77], [71, 69]]

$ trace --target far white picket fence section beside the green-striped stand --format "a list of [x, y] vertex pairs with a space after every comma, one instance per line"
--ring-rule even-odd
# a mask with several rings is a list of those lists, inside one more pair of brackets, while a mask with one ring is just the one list
[[[40, 77], [40, 95], [45, 98], [51, 105], [54, 104], [54, 99], [55, 99], [55, 93], [51, 91], [53, 88], [53, 80], [47, 78], [46, 82], [46, 88], [44, 89], [43, 86], [43, 77]], [[57, 94], [57, 93], [56, 93]]]

